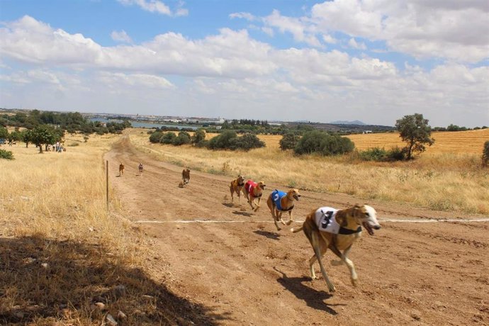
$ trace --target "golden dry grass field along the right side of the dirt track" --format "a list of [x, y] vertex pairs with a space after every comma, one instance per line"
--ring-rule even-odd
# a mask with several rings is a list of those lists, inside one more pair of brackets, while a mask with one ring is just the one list
[[[285, 186], [359, 198], [411, 203], [434, 210], [489, 213], [489, 171], [480, 167], [489, 129], [434, 133], [435, 145], [410, 162], [359, 162], [354, 156], [295, 157], [279, 150], [281, 136], [260, 135], [262, 149], [211, 152], [190, 146], [154, 145], [140, 130], [132, 142], [154, 157], [197, 171], [273, 181]], [[212, 135], [208, 135], [212, 137]], [[403, 145], [395, 133], [349, 136], [360, 150]]]

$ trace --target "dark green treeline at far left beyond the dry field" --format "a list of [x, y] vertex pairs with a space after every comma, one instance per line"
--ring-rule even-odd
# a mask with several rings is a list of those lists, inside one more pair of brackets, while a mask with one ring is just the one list
[[100, 135], [121, 133], [122, 130], [131, 126], [127, 120], [122, 123], [101, 123], [99, 121], [89, 121], [78, 112], [56, 113], [38, 110], [33, 110], [29, 113], [18, 112], [14, 115], [0, 115], [0, 125], [27, 129], [33, 129], [39, 125], [55, 125], [68, 133], [78, 131], [86, 134], [98, 133]]

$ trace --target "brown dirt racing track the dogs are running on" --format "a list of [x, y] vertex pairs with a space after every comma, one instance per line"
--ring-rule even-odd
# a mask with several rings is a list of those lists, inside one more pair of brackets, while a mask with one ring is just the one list
[[[489, 325], [489, 223], [382, 223], [364, 232], [350, 257], [359, 287], [346, 266], [325, 267], [337, 291], [311, 281], [313, 251], [302, 232], [276, 231], [266, 208], [252, 213], [230, 203], [232, 178], [191, 172], [179, 188], [181, 167], [135, 150], [128, 138], [106, 155], [109, 177], [128, 219], [141, 223], [159, 252], [152, 274], [177, 296], [206, 306], [223, 325]], [[116, 177], [118, 164], [125, 174]], [[137, 176], [137, 164], [145, 172]], [[296, 220], [318, 206], [361, 203], [351, 196], [301, 191]], [[235, 199], [235, 203], [237, 200]], [[369, 201], [383, 218], [480, 218]], [[179, 223], [213, 220], [221, 223]], [[236, 221], [236, 223], [225, 223]], [[298, 223], [295, 223], [298, 225]], [[316, 266], [318, 270], [318, 266]], [[320, 273], [318, 274], [320, 275]]]

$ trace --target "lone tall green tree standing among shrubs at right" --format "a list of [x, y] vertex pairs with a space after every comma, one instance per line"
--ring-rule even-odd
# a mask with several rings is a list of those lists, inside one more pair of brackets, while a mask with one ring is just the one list
[[431, 127], [428, 120], [423, 118], [420, 113], [411, 116], [404, 116], [395, 121], [395, 127], [400, 133], [400, 137], [407, 142], [405, 149], [407, 152], [406, 159], [412, 159], [414, 152], [422, 153], [426, 150], [425, 144], [433, 145], [434, 139], [431, 138]]

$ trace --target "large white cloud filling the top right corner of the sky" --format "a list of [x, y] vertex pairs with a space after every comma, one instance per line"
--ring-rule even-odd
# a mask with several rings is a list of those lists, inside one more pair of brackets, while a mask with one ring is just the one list
[[488, 11], [485, 0], [335, 0], [313, 6], [311, 19], [324, 33], [385, 40], [417, 58], [480, 62], [489, 54]]

